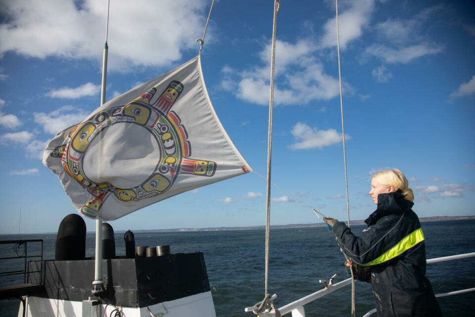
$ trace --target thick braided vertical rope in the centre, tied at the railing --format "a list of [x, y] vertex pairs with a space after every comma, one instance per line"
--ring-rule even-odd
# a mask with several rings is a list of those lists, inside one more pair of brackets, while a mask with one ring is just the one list
[[269, 95], [269, 130], [267, 140], [267, 185], [266, 185], [266, 258], [265, 258], [265, 293], [269, 285], [269, 231], [271, 222], [271, 162], [272, 162], [272, 108], [274, 106], [274, 68], [276, 61], [276, 30], [277, 12], [281, 6], [280, 0], [274, 0], [274, 23], [272, 27], [272, 56], [271, 56], [271, 79]]

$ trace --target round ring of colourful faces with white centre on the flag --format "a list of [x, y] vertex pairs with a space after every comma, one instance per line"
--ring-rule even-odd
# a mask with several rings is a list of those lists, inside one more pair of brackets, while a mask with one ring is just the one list
[[107, 190], [123, 202], [156, 196], [172, 185], [185, 156], [178, 124], [176, 114], [138, 100], [107, 108], [70, 134], [63, 166], [93, 193]]

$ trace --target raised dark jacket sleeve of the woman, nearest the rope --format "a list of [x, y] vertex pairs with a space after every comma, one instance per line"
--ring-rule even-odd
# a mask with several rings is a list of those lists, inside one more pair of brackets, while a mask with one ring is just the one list
[[332, 233], [341, 250], [353, 262], [360, 265], [372, 265], [376, 259], [398, 243], [397, 221], [377, 222], [364, 229], [361, 237], [355, 236], [343, 222], [337, 222]]

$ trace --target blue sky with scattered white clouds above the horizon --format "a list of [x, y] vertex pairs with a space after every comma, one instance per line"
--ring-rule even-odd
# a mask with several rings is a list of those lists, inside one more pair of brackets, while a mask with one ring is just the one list
[[[201, 53], [210, 99], [267, 173], [274, 1], [217, 0]], [[211, 0], [111, 0], [106, 101], [197, 55]], [[139, 5], [137, 4], [139, 3]], [[340, 0], [350, 218], [376, 209], [371, 175], [399, 168], [420, 217], [475, 215], [475, 2]], [[42, 164], [48, 141], [100, 104], [106, 0], [0, 1], [0, 233], [56, 232], [76, 212]], [[271, 224], [347, 219], [335, 5], [281, 0]], [[296, 198], [296, 199], [295, 199]], [[256, 173], [111, 221], [115, 230], [264, 225]], [[85, 219], [94, 231], [94, 220]]]

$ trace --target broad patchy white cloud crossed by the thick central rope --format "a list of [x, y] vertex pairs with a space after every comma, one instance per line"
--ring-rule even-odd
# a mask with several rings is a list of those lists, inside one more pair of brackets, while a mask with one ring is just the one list
[[[302, 105], [316, 100], [330, 100], [339, 94], [338, 80], [325, 73], [322, 62], [315, 57], [318, 49], [311, 39], [298, 40], [292, 44], [276, 42], [276, 69], [274, 105]], [[232, 71], [225, 66], [221, 88], [234, 93], [239, 99], [258, 105], [269, 105], [269, 56], [271, 45], [261, 53], [264, 66], [251, 70]], [[344, 92], [354, 89], [344, 82]], [[283, 88], [285, 87], [285, 88]]]

